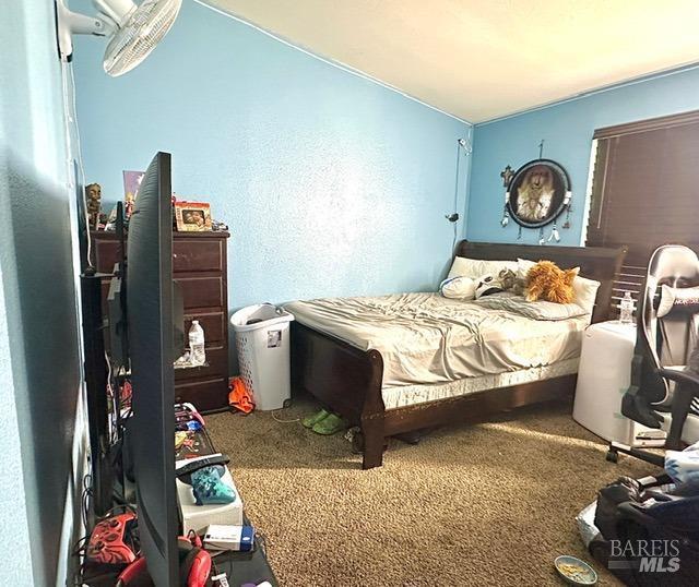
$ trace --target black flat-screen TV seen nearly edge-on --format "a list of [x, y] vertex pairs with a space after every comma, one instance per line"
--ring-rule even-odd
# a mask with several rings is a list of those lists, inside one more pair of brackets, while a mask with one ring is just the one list
[[129, 220], [126, 267], [133, 386], [129, 445], [141, 549], [158, 587], [179, 584], [171, 193], [170, 155], [158, 153], [143, 177]]

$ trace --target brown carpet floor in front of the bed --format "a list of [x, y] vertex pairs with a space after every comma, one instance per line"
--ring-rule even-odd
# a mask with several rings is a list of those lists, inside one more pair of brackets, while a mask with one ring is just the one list
[[[315, 405], [276, 412], [295, 420]], [[620, 475], [649, 465], [604, 458], [570, 407], [516, 410], [446, 427], [419, 445], [392, 440], [383, 467], [363, 471], [341, 434], [321, 438], [270, 412], [208, 418], [282, 585], [562, 585], [558, 554], [593, 563], [576, 514]]]

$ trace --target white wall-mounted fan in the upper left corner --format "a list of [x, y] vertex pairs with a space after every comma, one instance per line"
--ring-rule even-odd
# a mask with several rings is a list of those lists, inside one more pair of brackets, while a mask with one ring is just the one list
[[141, 63], [167, 34], [182, 0], [92, 0], [97, 14], [72, 12], [67, 0], [56, 0], [58, 48], [63, 61], [73, 55], [73, 34], [110, 37], [105, 50], [105, 72], [116, 77]]

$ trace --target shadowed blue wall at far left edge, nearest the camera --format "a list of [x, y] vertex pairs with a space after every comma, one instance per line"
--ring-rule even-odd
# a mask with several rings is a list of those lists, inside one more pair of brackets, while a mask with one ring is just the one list
[[64, 585], [80, 371], [54, 3], [8, 3], [0, 38], [0, 585]]

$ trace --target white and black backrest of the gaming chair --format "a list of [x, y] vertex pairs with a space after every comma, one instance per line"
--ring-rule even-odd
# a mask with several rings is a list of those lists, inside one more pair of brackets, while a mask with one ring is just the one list
[[[699, 259], [687, 247], [665, 244], [655, 250], [648, 265], [645, 280], [639, 296], [638, 333], [636, 343], [636, 367], [632, 379], [653, 391], [653, 402], [667, 398], [667, 382], [657, 375], [659, 367], [678, 367], [687, 364], [689, 352], [697, 343], [699, 314], [690, 312], [671, 312], [657, 316], [657, 298], [661, 286], [699, 286]], [[639, 364], [639, 357], [641, 364]], [[641, 372], [637, 372], [640, 368]]]

